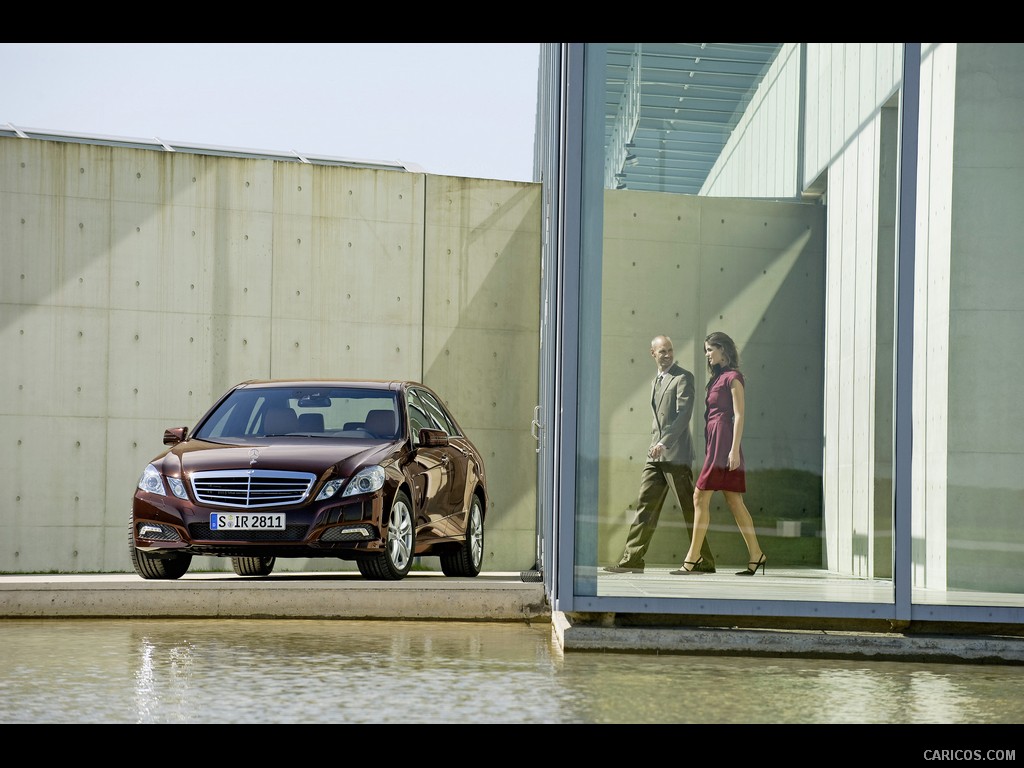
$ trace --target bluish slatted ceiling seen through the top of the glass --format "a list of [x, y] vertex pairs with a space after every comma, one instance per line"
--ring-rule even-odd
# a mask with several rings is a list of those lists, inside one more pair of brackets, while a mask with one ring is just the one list
[[781, 43], [610, 43], [605, 186], [696, 195]]

